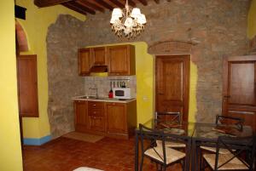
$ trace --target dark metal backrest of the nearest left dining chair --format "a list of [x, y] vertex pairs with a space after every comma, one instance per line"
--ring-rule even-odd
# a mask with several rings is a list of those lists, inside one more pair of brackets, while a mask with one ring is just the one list
[[[161, 140], [162, 146], [166, 146], [164, 132], [162, 130], [147, 128], [141, 123], [139, 124], [139, 130], [142, 154], [144, 154], [144, 152], [149, 148], [154, 148], [156, 146], [156, 140]], [[158, 155], [164, 161], [164, 163], [166, 163], [166, 148], [162, 148], [162, 151], [163, 157], [157, 151], [155, 151], [155, 154]]]

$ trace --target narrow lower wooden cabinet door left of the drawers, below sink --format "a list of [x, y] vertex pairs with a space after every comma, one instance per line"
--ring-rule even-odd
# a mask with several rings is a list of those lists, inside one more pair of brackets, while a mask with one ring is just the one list
[[87, 101], [74, 101], [75, 111], [75, 128], [78, 131], [83, 131], [88, 127], [87, 119]]

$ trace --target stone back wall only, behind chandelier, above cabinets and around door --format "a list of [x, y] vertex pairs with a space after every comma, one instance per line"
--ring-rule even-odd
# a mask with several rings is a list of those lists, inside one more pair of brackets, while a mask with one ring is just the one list
[[[198, 122], [212, 122], [222, 108], [222, 60], [224, 56], [247, 53], [249, 0], [172, 0], [137, 5], [148, 23], [140, 37], [152, 45], [161, 41], [197, 44], [191, 60], [198, 69], [196, 88]], [[110, 12], [89, 15], [84, 25], [84, 46], [124, 43], [109, 26]]]

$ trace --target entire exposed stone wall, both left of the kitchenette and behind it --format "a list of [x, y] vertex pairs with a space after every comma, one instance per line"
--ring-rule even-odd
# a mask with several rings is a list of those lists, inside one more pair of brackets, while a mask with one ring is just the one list
[[[172, 0], [137, 5], [148, 23], [140, 37], [130, 42], [148, 45], [162, 41], [196, 44], [191, 60], [198, 69], [196, 88], [198, 122], [212, 122], [221, 113], [222, 60], [247, 53], [249, 0]], [[111, 13], [88, 15], [84, 23], [60, 15], [47, 36], [49, 123], [53, 137], [73, 130], [72, 96], [84, 94], [84, 78], [78, 76], [77, 49], [126, 43], [111, 31]]]

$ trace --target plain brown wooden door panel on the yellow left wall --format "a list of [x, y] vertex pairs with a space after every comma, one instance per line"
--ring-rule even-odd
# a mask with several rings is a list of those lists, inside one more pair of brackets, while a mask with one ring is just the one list
[[38, 117], [37, 55], [17, 56], [17, 79], [21, 117]]

